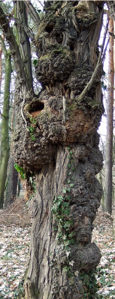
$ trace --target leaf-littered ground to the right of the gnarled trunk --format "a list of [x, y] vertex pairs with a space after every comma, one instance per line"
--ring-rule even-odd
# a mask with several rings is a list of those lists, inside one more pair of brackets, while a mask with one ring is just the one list
[[92, 242], [100, 248], [102, 257], [97, 267], [96, 278], [98, 281], [97, 298], [115, 298], [115, 237], [112, 236], [113, 221], [105, 218], [99, 209], [94, 221]]

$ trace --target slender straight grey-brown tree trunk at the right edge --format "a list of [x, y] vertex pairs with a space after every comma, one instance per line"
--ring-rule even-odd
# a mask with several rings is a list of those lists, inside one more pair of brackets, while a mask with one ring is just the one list
[[[109, 31], [114, 33], [114, 20], [109, 21]], [[108, 80], [114, 85], [114, 38], [109, 40], [109, 65]], [[105, 194], [104, 211], [112, 213], [112, 166], [113, 166], [113, 111], [114, 111], [114, 89], [108, 85], [107, 101], [107, 136], [106, 136], [106, 157], [105, 157]]]

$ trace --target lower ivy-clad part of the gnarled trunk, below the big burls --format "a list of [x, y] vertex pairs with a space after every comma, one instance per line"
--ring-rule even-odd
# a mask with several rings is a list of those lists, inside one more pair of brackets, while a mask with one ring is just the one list
[[[92, 223], [102, 195], [95, 178], [95, 167], [102, 166], [97, 144], [97, 135], [93, 148], [73, 144], [71, 159], [68, 147], [57, 146], [56, 160], [43, 166], [36, 177], [37, 195], [29, 204], [33, 224], [26, 298], [32, 292], [37, 298], [83, 298], [78, 273], [95, 269], [100, 260], [97, 245], [91, 243]], [[68, 180], [74, 186], [70, 187]], [[60, 210], [60, 216], [52, 217], [53, 201], [59, 196], [69, 204], [70, 214]]]

